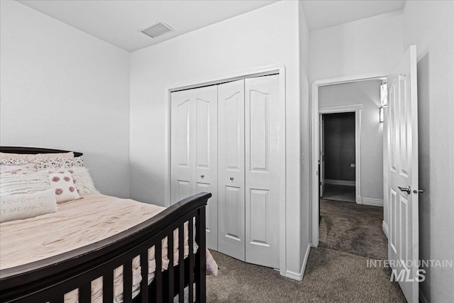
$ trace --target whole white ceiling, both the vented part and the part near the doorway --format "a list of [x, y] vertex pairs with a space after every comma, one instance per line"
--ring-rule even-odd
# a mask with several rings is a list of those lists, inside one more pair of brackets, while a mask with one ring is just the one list
[[[134, 51], [253, 11], [277, 0], [17, 0], [21, 4]], [[292, 0], [284, 0], [292, 1]], [[311, 31], [402, 9], [405, 0], [302, 0]], [[174, 31], [155, 39], [140, 30], [162, 21]]]

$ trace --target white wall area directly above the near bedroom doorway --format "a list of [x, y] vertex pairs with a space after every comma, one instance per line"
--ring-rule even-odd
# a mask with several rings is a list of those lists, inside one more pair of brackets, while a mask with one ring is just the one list
[[402, 56], [402, 11], [311, 31], [310, 80], [387, 75]]

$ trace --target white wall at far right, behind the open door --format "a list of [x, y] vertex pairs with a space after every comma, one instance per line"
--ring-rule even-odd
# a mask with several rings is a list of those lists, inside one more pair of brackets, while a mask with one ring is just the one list
[[[419, 258], [454, 260], [454, 2], [406, 1], [404, 48], [418, 50]], [[428, 302], [452, 302], [454, 268], [425, 268]]]

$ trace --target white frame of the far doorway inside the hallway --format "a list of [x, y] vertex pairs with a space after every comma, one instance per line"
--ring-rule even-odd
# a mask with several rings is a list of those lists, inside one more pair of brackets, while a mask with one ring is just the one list
[[[355, 202], [362, 204], [361, 196], [361, 109], [362, 104], [319, 107], [319, 119], [323, 114], [355, 113]], [[319, 132], [319, 136], [321, 133]], [[320, 138], [319, 138], [320, 142]], [[320, 152], [320, 150], [319, 150]], [[326, 166], [326, 164], [325, 164]], [[326, 179], [326, 178], [325, 178]], [[317, 206], [318, 207], [318, 206]]]

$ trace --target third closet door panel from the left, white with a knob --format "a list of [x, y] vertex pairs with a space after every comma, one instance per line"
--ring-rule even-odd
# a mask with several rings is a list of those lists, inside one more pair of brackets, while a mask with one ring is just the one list
[[218, 251], [245, 260], [244, 80], [218, 85]]

